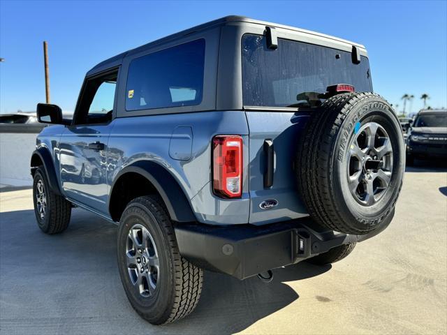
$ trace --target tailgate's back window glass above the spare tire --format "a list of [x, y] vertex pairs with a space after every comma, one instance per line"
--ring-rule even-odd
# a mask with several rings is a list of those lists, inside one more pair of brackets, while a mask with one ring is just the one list
[[242, 37], [244, 105], [316, 107], [326, 87], [351, 84], [356, 91], [372, 91], [369, 62], [353, 64], [351, 52], [293, 40], [278, 39], [277, 50], [267, 48], [265, 36]]

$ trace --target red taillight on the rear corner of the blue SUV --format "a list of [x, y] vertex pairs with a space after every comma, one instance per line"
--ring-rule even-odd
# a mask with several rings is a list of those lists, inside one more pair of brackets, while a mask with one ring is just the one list
[[212, 186], [225, 198], [242, 195], [242, 137], [219, 135], [212, 140]]

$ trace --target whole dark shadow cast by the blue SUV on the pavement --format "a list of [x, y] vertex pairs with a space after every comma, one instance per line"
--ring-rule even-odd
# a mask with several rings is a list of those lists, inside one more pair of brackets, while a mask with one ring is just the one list
[[285, 282], [330, 269], [302, 262], [275, 269], [271, 283], [206, 271], [196, 311], [155, 327], [126, 299], [116, 238], [115, 225], [82, 209], [73, 209], [68, 229], [55, 235], [38, 229], [33, 210], [0, 213], [0, 323], [5, 334], [29, 329], [33, 334], [118, 334], [126, 332], [129, 322], [138, 334], [232, 334], [298, 299]]

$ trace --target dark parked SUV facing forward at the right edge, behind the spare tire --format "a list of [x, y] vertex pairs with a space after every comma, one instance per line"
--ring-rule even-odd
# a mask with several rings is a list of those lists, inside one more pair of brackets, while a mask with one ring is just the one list
[[447, 158], [447, 110], [421, 110], [408, 136], [406, 165], [414, 158]]

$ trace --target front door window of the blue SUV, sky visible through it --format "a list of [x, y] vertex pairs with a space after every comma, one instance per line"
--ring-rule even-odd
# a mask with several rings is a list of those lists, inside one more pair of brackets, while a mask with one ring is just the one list
[[118, 72], [87, 80], [75, 124], [103, 124], [112, 120]]

